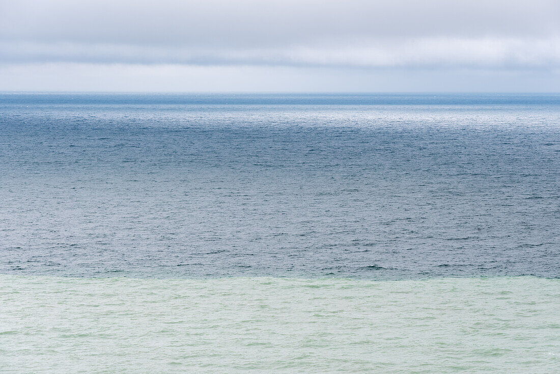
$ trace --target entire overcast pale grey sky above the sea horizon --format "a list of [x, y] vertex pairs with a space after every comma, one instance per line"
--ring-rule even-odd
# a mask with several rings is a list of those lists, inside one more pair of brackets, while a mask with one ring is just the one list
[[558, 0], [0, 0], [1, 91], [558, 92]]

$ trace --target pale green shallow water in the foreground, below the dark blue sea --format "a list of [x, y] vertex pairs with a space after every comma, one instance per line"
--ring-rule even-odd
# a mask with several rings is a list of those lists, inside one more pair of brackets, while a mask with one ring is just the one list
[[0, 275], [11, 372], [560, 371], [560, 280]]

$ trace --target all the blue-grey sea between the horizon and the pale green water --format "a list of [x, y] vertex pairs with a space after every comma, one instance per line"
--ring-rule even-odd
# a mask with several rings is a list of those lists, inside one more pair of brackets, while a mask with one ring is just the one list
[[0, 273], [560, 276], [559, 95], [0, 95]]

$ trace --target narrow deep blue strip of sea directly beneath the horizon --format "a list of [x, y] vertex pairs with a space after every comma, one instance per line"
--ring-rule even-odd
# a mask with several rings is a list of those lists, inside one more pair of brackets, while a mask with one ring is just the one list
[[560, 94], [2, 94], [4, 105], [560, 105]]

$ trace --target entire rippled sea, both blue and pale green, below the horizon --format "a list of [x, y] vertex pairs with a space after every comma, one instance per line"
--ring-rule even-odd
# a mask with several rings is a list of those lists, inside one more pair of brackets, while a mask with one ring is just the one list
[[560, 371], [560, 95], [0, 94], [2, 372]]

